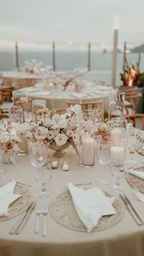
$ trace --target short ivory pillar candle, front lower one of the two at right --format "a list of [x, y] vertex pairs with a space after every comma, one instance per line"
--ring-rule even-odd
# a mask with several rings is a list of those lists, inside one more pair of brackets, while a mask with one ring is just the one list
[[123, 147], [111, 147], [110, 148], [110, 154], [112, 161], [115, 161], [117, 163], [123, 163], [124, 161], [124, 148]]

